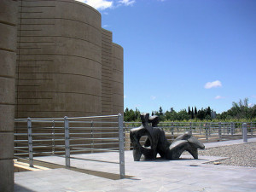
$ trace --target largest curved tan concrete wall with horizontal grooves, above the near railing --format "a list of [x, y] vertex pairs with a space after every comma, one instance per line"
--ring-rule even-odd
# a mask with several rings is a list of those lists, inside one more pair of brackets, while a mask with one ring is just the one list
[[101, 15], [84, 3], [21, 1], [16, 118], [102, 114]]

